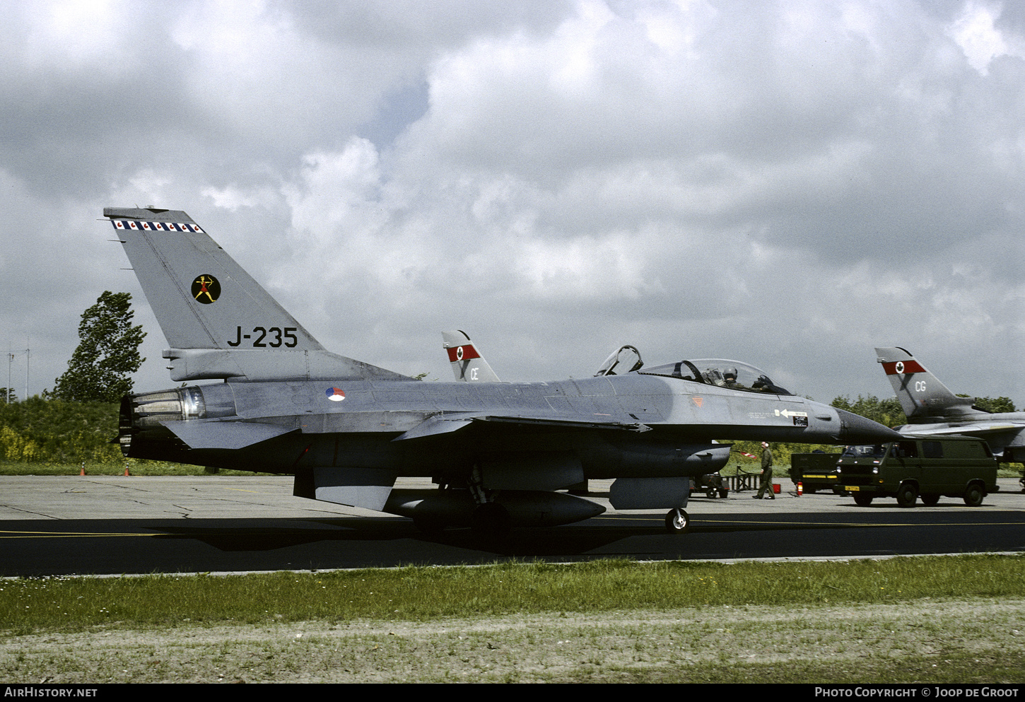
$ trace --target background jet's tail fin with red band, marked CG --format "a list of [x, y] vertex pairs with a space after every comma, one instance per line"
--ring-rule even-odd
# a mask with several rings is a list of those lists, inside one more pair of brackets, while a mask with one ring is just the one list
[[975, 398], [958, 398], [951, 393], [906, 348], [876, 348], [875, 355], [909, 421], [976, 414], [972, 409]]

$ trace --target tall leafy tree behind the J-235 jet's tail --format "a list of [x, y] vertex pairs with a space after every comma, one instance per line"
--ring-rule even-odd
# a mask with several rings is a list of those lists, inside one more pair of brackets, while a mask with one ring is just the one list
[[131, 326], [135, 313], [131, 295], [107, 290], [82, 313], [78, 348], [68, 370], [56, 379], [52, 397], [75, 402], [119, 402], [131, 391], [129, 377], [146, 359], [138, 346], [146, 338], [142, 326]]

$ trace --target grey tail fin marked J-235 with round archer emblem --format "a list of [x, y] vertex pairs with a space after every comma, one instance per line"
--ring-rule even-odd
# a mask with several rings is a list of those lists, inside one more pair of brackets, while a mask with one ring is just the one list
[[172, 380], [405, 379], [330, 354], [180, 210], [104, 208], [170, 348]]

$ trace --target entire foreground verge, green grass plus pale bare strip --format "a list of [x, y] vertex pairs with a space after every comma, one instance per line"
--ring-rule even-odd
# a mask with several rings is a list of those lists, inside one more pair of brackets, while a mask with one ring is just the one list
[[0, 581], [0, 679], [1025, 682], [1025, 559]]

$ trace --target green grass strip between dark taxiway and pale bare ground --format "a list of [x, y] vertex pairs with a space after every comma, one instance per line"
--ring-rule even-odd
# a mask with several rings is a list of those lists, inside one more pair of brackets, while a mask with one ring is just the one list
[[181, 622], [432, 621], [467, 614], [1025, 598], [1023, 576], [1025, 558], [962, 555], [839, 563], [593, 561], [223, 577], [16, 578], [0, 581], [0, 629], [17, 635]]

